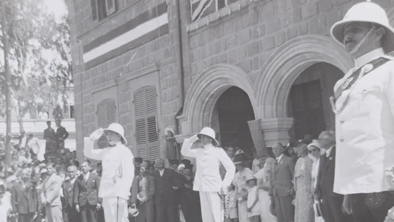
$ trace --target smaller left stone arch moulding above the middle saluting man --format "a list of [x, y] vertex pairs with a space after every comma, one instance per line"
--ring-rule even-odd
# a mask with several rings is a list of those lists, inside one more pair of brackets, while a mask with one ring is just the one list
[[188, 129], [183, 129], [185, 125], [181, 124], [182, 134], [199, 132], [203, 127], [210, 126], [216, 101], [231, 86], [236, 86], [249, 95], [256, 114], [253, 81], [248, 74], [234, 65], [213, 65], [199, 74], [187, 91], [183, 114], [178, 118], [180, 122], [188, 122]]

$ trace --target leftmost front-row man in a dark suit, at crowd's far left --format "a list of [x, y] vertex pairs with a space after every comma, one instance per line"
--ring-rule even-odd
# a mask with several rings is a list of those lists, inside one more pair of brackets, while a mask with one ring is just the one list
[[15, 182], [12, 187], [11, 204], [19, 222], [32, 222], [37, 214], [37, 192], [30, 182], [30, 174], [27, 169], [21, 171], [21, 180]]

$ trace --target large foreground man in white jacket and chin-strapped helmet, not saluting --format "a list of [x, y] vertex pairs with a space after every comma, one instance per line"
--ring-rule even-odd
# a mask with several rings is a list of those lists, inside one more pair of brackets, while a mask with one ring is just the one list
[[371, 2], [353, 6], [331, 36], [356, 59], [330, 98], [335, 118], [334, 192], [355, 222], [383, 222], [394, 206], [384, 170], [394, 164], [394, 29]]

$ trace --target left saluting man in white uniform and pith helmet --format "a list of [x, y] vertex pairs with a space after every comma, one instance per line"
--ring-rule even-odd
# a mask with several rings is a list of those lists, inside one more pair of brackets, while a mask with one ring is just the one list
[[[93, 142], [103, 133], [110, 147], [93, 149]], [[101, 160], [103, 172], [98, 197], [103, 198], [106, 221], [128, 222], [127, 200], [134, 179], [134, 156], [125, 146], [124, 129], [113, 123], [107, 129], [98, 129], [90, 137], [84, 138], [84, 155], [87, 158]]]

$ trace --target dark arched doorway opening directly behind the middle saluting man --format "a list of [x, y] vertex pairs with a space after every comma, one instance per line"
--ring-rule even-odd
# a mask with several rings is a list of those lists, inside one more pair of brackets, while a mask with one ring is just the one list
[[253, 140], [248, 121], [255, 120], [255, 113], [248, 94], [232, 86], [220, 95], [215, 109], [217, 119], [214, 115], [213, 124], [219, 124], [218, 139], [221, 146], [239, 146], [245, 152], [250, 152]]

